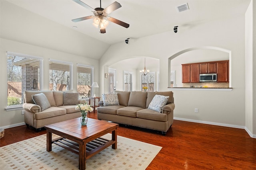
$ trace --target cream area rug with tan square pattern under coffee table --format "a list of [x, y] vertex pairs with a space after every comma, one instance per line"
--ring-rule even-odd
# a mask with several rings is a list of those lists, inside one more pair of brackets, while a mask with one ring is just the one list
[[[52, 139], [58, 137], [52, 134]], [[103, 136], [111, 139], [111, 134]], [[117, 149], [108, 147], [86, 160], [86, 170], [144, 170], [162, 147], [118, 136]], [[46, 134], [0, 147], [2, 170], [77, 170], [78, 154], [52, 144]]]

